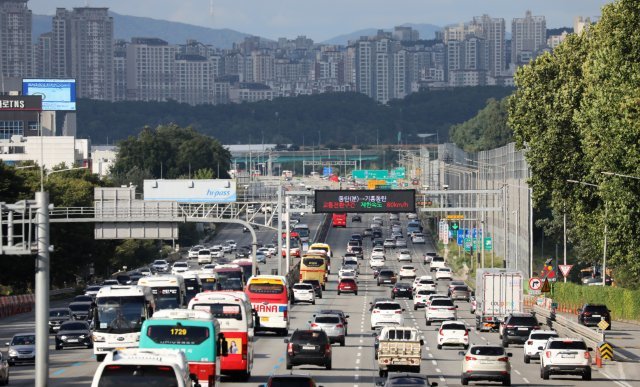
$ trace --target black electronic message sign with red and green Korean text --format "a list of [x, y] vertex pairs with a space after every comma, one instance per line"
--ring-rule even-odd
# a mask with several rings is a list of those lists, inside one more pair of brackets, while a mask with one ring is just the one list
[[415, 212], [416, 191], [316, 190], [315, 211], [322, 212]]

